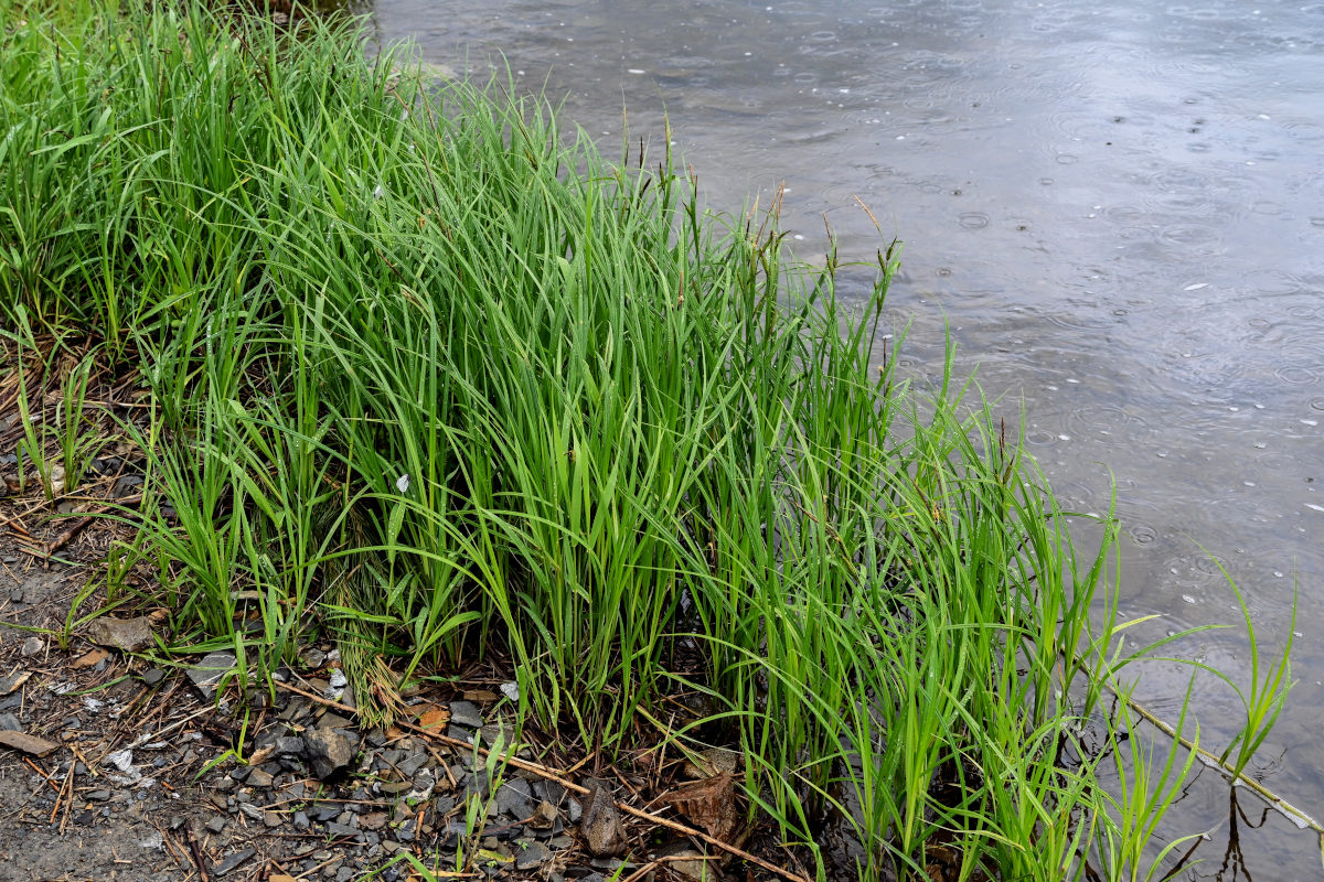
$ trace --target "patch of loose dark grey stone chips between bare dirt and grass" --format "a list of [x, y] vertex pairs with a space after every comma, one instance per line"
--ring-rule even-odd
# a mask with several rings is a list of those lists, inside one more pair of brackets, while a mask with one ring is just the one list
[[[97, 666], [106, 661], [99, 659]], [[330, 665], [334, 655], [311, 651], [306, 661]], [[334, 668], [326, 673], [330, 678], [314, 674], [299, 684], [352, 701], [344, 694], [343, 674]], [[421, 721], [445, 727], [451, 739], [438, 744], [395, 729], [364, 730], [351, 714], [327, 706], [338, 702], [318, 701], [316, 693], [278, 692], [275, 703], [257, 711], [261, 729], [244, 738], [242, 714], [226, 711], [224, 700], [216, 707], [217, 689], [233, 676], [230, 653], [207, 656], [183, 680], [167, 680], [160, 669], [140, 673], [139, 686], [151, 681], [152, 688], [175, 688], [187, 698], [175, 702], [173, 722], [163, 717], [136, 738], [111, 742], [117, 748], [110, 752], [97, 752], [105, 739], [95, 744], [90, 739], [106, 718], [120, 713], [114, 692], [83, 701], [85, 713], [42, 727], [58, 741], [19, 731], [23, 719], [0, 710], [0, 730], [36, 739], [13, 746], [49, 758], [49, 779], [69, 782], [68, 792], [38, 791], [26, 807], [32, 816], [52, 813], [74, 830], [126, 822], [155, 829], [138, 836], [140, 849], [168, 853], [184, 866], [201, 858], [213, 879], [249, 878], [269, 866], [277, 871], [269, 869], [267, 878], [278, 882], [348, 882], [372, 870], [379, 871], [373, 878], [393, 882], [409, 877], [401, 852], [429, 865], [440, 854], [442, 866], [451, 869], [467, 858], [469, 869], [487, 878], [600, 882], [634, 869], [617, 857], [624, 832], [605, 788], [601, 800], [596, 783], [581, 796], [555, 780], [503, 767], [482, 751], [454, 746], [508, 741], [499, 717], [478, 702], [420, 705], [426, 709]], [[48, 709], [69, 685], [40, 689]], [[12, 692], [0, 703], [17, 710], [23, 690]], [[496, 700], [489, 703], [499, 703], [495, 693], [489, 697]], [[241, 738], [246, 755], [236, 756]], [[32, 744], [41, 752], [29, 750]], [[172, 874], [143, 878], [158, 877]]]

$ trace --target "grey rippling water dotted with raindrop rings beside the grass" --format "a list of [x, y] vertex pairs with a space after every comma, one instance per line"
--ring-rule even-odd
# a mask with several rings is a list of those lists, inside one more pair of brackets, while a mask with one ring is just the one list
[[[1299, 684], [1255, 774], [1321, 813], [1324, 4], [376, 0], [375, 24], [545, 83], [608, 155], [622, 110], [654, 148], [665, 111], [710, 205], [785, 182], [809, 261], [825, 220], [874, 254], [858, 197], [906, 243], [910, 370], [939, 370], [947, 323], [1066, 502], [1106, 510], [1111, 469], [1123, 615], [1162, 616], [1139, 637], [1239, 621], [1221, 565], [1276, 651], [1299, 586]], [[1249, 677], [1243, 629], [1177, 652]], [[1174, 721], [1185, 678], [1151, 666], [1140, 694]], [[1237, 697], [1205, 678], [1194, 703], [1221, 750]], [[1214, 828], [1192, 878], [1324, 875], [1276, 813], [1238, 840], [1209, 771], [1174, 820]]]

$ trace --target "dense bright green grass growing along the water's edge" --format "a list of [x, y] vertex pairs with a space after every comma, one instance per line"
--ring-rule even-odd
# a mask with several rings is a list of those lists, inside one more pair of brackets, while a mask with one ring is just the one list
[[816, 856], [839, 812], [861, 878], [1136, 878], [1190, 766], [1102, 783], [1115, 522], [1078, 555], [973, 387], [879, 365], [895, 250], [847, 311], [670, 155], [360, 40], [0, 19], [0, 317], [142, 372], [111, 573], [154, 567], [169, 649], [269, 673], [330, 629], [379, 713], [493, 660], [605, 751], [700, 690], [675, 737]]

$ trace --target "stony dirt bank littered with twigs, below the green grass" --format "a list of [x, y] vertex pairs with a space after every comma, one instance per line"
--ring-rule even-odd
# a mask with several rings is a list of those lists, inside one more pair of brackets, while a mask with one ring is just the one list
[[[409, 696], [396, 726], [364, 729], [328, 645], [305, 648], [274, 700], [250, 693], [246, 715], [233, 685], [214, 692], [233, 655], [166, 669], [123, 651], [152, 616], [83, 623], [61, 648], [70, 604], [97, 604], [77, 602], [95, 571], [77, 563], [103, 555], [111, 529], [89, 525], [61, 550], [74, 566], [49, 570], [0, 538], [0, 624], [19, 625], [0, 627], [0, 881], [422, 879], [401, 853], [437, 878], [776, 878], [674, 829], [747, 841], [726, 763], [708, 778], [690, 766], [688, 785], [679, 762], [600, 767], [598, 780], [526, 750], [493, 775], [471, 742], [508, 723], [499, 681]], [[663, 805], [681, 809], [662, 812], [673, 829], [629, 813]]]

